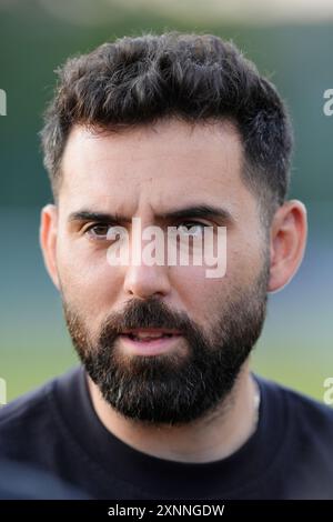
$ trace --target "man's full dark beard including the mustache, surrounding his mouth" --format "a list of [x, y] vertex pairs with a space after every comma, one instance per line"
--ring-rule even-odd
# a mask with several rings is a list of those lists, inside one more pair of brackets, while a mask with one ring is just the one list
[[[64, 299], [63, 309], [79, 358], [107, 403], [133, 421], [183, 425], [220, 410], [232, 391], [262, 331], [268, 281], [266, 262], [251, 287], [225, 298], [206, 329], [155, 297], [132, 299], [108, 315], [93, 337], [89, 321]], [[180, 331], [185, 353], [176, 347], [153, 357], [120, 350], [122, 331], [154, 328]]]

